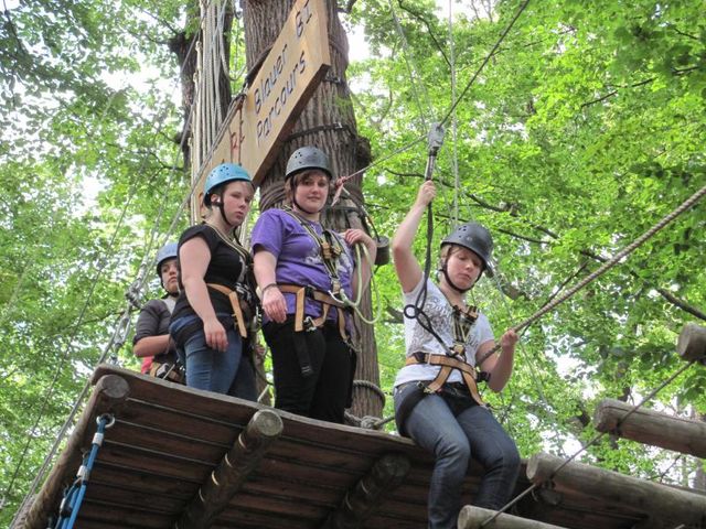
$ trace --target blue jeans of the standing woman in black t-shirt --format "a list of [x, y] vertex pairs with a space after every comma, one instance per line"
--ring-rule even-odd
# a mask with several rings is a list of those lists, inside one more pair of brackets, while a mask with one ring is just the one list
[[[180, 319], [182, 320], [182, 319]], [[182, 322], [172, 323], [172, 333]], [[255, 370], [248, 358], [243, 358], [243, 341], [235, 328], [226, 331], [228, 347], [224, 352], [206, 345], [203, 330], [186, 338], [179, 357], [186, 368], [186, 386], [240, 399], [257, 400]]]

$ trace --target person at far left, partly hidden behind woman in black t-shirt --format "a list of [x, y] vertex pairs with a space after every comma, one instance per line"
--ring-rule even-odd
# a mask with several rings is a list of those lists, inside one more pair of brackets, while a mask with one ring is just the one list
[[169, 322], [179, 296], [179, 260], [176, 242], [169, 242], [157, 252], [157, 276], [167, 294], [150, 300], [137, 319], [132, 352], [142, 358], [141, 373], [183, 382], [183, 373], [176, 359], [176, 348], [169, 335]]

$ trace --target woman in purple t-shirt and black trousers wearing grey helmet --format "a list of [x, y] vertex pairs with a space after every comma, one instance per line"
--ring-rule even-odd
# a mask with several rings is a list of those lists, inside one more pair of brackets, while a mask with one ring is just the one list
[[[342, 423], [356, 359], [345, 301], [367, 287], [376, 245], [362, 229], [340, 235], [321, 225], [332, 180], [325, 153], [298, 149], [285, 174], [287, 205], [260, 215], [252, 245], [263, 333], [272, 355], [275, 407]], [[352, 247], [359, 244], [370, 259], [356, 263]]]

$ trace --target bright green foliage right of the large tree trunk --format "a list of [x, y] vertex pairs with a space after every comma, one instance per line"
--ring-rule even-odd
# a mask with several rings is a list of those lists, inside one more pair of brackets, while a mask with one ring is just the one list
[[[492, 13], [471, 9], [457, 15], [457, 94], [520, 3], [500, 1]], [[404, 6], [395, 2], [404, 37], [388, 2], [365, 2], [352, 14], [364, 24], [373, 53], [349, 69], [354, 86], [363, 87], [354, 97], [355, 112], [381, 159], [367, 171], [364, 188], [368, 209], [385, 219], [387, 234], [414, 199], [425, 144], [387, 154], [426, 133], [420, 116], [427, 123], [443, 119], [452, 105], [448, 21], [429, 6], [415, 7], [418, 12]], [[434, 245], [454, 222], [456, 162], [459, 220], [484, 223], [496, 241], [499, 283], [485, 279], [474, 300], [498, 334], [706, 184], [705, 17], [700, 2], [530, 3], [448, 116], [436, 174]], [[414, 63], [411, 76], [407, 62]], [[415, 91], [427, 94], [421, 110]], [[585, 424], [600, 398], [628, 395], [638, 402], [682, 366], [674, 344], [695, 316], [674, 299], [705, 312], [706, 253], [703, 237], [695, 238], [706, 227], [705, 212], [703, 204], [692, 208], [530, 327], [509, 387], [500, 397], [488, 396], [524, 455], [560, 453], [590, 439]], [[422, 258], [422, 234], [418, 239]], [[399, 310], [394, 279], [385, 278], [385, 299]], [[521, 294], [514, 301], [498, 292], [507, 285]], [[377, 330], [381, 364], [399, 366], [400, 342], [386, 347], [388, 335]], [[659, 401], [681, 413], [703, 412], [703, 368], [692, 368]], [[602, 443], [588, 457], [651, 478], [649, 462], [670, 458], [631, 443]]]

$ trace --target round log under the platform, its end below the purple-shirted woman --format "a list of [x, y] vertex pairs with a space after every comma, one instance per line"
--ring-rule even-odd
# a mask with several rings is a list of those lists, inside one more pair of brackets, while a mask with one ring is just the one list
[[186, 507], [176, 529], [206, 529], [257, 468], [269, 446], [282, 433], [282, 421], [274, 410], [256, 412], [233, 447]]

